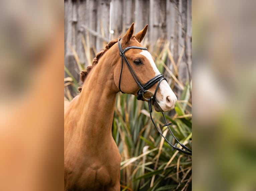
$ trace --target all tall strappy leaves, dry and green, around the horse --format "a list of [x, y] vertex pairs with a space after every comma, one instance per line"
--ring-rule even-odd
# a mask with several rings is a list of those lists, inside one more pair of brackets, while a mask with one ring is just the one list
[[[84, 41], [83, 41], [84, 42]], [[84, 42], [85, 49], [89, 47]], [[71, 49], [75, 51], [74, 49]], [[192, 104], [191, 82], [184, 85], [179, 80], [177, 73], [179, 63], [175, 63], [170, 53], [169, 43], [161, 39], [155, 46], [148, 49], [155, 58], [156, 65], [161, 73], [167, 71], [170, 79], [168, 84], [173, 88], [179, 87], [182, 91], [175, 105], [175, 113], [167, 120], [172, 122], [171, 128], [174, 135], [181, 143], [191, 148], [192, 142]], [[180, 58], [183, 56], [181, 51]], [[74, 54], [77, 57], [77, 54]], [[76, 58], [79, 63], [79, 59]], [[171, 63], [166, 66], [167, 60]], [[180, 60], [180, 59], [179, 59]], [[179, 60], [177, 62], [179, 62]], [[68, 69], [65, 68], [67, 72]], [[65, 79], [65, 96], [72, 97], [67, 86], [78, 87], [78, 82], [73, 76]], [[78, 92], [77, 92], [78, 93]], [[152, 116], [161, 128], [166, 138], [174, 144], [175, 139], [162, 128], [163, 117], [161, 113], [153, 112]], [[178, 151], [171, 151], [171, 147], [164, 141], [154, 128], [146, 102], [138, 101], [134, 95], [118, 93], [114, 113], [112, 136], [115, 139], [121, 162], [121, 187], [125, 190], [160, 191], [160, 190], [191, 190], [192, 158]]]

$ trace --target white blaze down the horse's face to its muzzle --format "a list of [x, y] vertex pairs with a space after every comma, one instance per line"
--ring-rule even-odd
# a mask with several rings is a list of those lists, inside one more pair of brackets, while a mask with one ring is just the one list
[[[145, 56], [148, 59], [149, 63], [151, 64], [151, 66], [153, 68], [153, 71], [155, 72], [155, 76], [159, 75], [160, 72], [156, 68], [155, 62], [154, 62], [151, 54], [146, 50], [142, 50], [142, 52], [140, 54]], [[172, 92], [170, 86], [168, 85], [168, 83], [165, 80], [163, 80], [160, 83], [159, 88], [160, 88], [160, 92], [163, 96], [163, 99], [158, 100], [159, 101], [158, 105], [162, 108], [163, 111], [168, 111], [170, 109], [173, 109], [175, 106], [175, 103], [177, 101], [176, 95]], [[166, 101], [167, 97], [168, 97], [169, 102]]]

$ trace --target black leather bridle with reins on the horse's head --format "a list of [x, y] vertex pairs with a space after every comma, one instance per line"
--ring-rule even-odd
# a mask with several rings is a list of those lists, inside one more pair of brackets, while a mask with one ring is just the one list
[[[185, 154], [187, 154], [187, 155], [192, 155], [192, 150], [189, 149], [189, 148], [187, 148], [187, 147], [186, 147], [185, 145], [183, 145], [182, 143], [180, 143], [180, 142], [178, 141], [178, 139], [174, 136], [174, 134], [172, 133], [172, 131], [171, 131], [170, 127], [169, 127], [169, 125], [170, 125], [171, 123], [167, 123], [167, 120], [166, 120], [166, 118], [165, 118], [163, 112], [162, 112], [162, 115], [163, 115], [164, 120], [165, 120], [165, 122], [166, 122], [166, 124], [163, 125], [163, 127], [164, 127], [164, 126], [167, 126], [167, 127], [168, 127], [168, 129], [169, 129], [169, 131], [171, 132], [171, 135], [173, 136], [173, 138], [180, 144], [180, 146], [181, 146], [184, 150], [182, 150], [182, 149], [176, 147], [177, 143], [175, 143], [174, 145], [172, 145], [172, 144], [166, 139], [166, 137], [160, 132], [160, 130], [157, 128], [157, 126], [156, 126], [156, 124], [155, 124], [155, 122], [154, 122], [154, 120], [153, 120], [153, 118], [152, 118], [152, 106], [151, 106], [151, 104], [154, 104], [155, 97], [156, 97], [156, 92], [157, 92], [157, 90], [158, 90], [158, 88], [159, 88], [159, 86], [160, 86], [160, 83], [161, 83], [163, 80], [166, 80], [166, 79], [164, 78], [164, 76], [163, 76], [162, 74], [159, 74], [159, 75], [155, 76], [154, 78], [150, 79], [146, 84], [143, 85], [143, 84], [140, 82], [140, 80], [138, 79], [138, 77], [136, 76], [134, 70], [132, 69], [132, 67], [131, 67], [130, 63], [128, 62], [127, 58], [125, 57], [125, 54], [124, 54], [124, 53], [125, 53], [127, 50], [129, 50], [129, 49], [147, 50], [147, 48], [138, 47], [138, 46], [129, 46], [129, 47], [126, 47], [126, 48], [123, 50], [123, 49], [122, 49], [122, 46], [121, 46], [121, 39], [122, 39], [122, 38], [119, 38], [119, 39], [118, 39], [118, 48], [119, 48], [119, 52], [120, 52], [120, 56], [121, 56], [121, 72], [120, 72], [120, 77], [119, 77], [119, 90], [120, 90], [120, 92], [122, 92], [120, 85], [121, 85], [121, 76], [122, 76], [122, 71], [123, 71], [123, 60], [124, 60], [125, 63], [126, 63], [126, 65], [127, 65], [127, 67], [128, 67], [128, 69], [129, 69], [129, 71], [130, 71], [130, 73], [131, 73], [131, 75], [132, 75], [132, 77], [134, 78], [135, 82], [137, 83], [138, 87], [140, 88], [139, 91], [137, 92], [137, 99], [138, 99], [138, 100], [143, 100], [143, 98], [144, 98], [144, 100], [147, 100], [147, 102], [148, 102], [148, 108], [149, 108], [149, 113], [150, 113], [150, 118], [151, 118], [151, 120], [152, 120], [152, 122], [153, 122], [153, 124], [154, 124], [154, 126], [155, 126], [155, 128], [156, 128], [156, 130], [157, 130], [157, 131], [160, 133], [160, 135], [166, 140], [166, 142], [172, 147], [172, 151], [173, 151], [173, 149], [176, 149], [176, 150], [178, 150], [178, 151], [180, 151], [180, 152], [183, 152], [183, 153], [185, 153]], [[151, 88], [151, 87], [152, 87], [153, 85], [155, 85], [156, 83], [158, 83], [158, 84], [157, 84], [157, 86], [156, 86], [155, 93], [153, 94], [152, 92], [148, 91], [148, 89]], [[144, 94], [147, 93], [147, 92], [148, 92], [148, 93], [151, 93], [151, 97], [150, 97], [150, 98], [145, 98]], [[122, 93], [124, 94], [124, 92], [122, 92]], [[151, 102], [152, 102], [152, 103], [151, 103]]]

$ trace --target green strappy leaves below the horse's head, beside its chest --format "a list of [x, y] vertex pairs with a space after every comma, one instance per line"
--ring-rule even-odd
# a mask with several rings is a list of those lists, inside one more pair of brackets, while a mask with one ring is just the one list
[[[181, 105], [177, 102], [175, 106], [176, 117], [166, 118], [172, 122], [171, 128], [177, 139], [189, 143], [191, 148], [191, 141], [188, 141], [192, 136], [191, 117], [186, 117]], [[176, 189], [181, 182], [183, 184], [180, 187], [183, 189], [188, 186], [185, 183], [191, 182], [191, 157], [171, 151], [172, 148], [154, 128], [147, 107], [146, 102], [136, 100], [133, 95], [117, 96], [113, 137], [122, 156], [121, 184], [129, 190], [146, 191]], [[153, 112], [153, 118], [155, 121], [163, 121], [157, 112]], [[170, 142], [174, 141], [166, 129], [162, 129], [162, 132], [167, 133], [166, 138]]]

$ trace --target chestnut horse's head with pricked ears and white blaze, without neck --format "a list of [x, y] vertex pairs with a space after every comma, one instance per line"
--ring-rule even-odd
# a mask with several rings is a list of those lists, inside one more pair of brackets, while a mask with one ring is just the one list
[[[148, 25], [136, 35], [133, 35], [133, 26], [134, 23], [120, 39], [120, 42], [118, 41], [121, 56], [119, 55], [119, 62], [114, 71], [115, 84], [119, 91], [136, 95], [137, 98], [139, 90], [142, 89], [141, 100], [147, 100], [154, 96], [152, 104], [155, 110], [169, 111], [174, 108], [177, 97], [158, 71], [152, 55], [140, 44], [147, 32]], [[144, 85], [147, 84], [149, 86], [145, 89]]]

